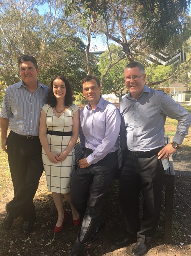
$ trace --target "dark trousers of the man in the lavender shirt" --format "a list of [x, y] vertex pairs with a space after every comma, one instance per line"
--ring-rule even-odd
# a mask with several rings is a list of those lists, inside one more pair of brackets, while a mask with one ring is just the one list
[[[81, 159], [87, 157], [83, 153]], [[118, 169], [117, 151], [107, 154], [104, 159], [87, 168], [79, 166], [75, 170], [71, 186], [71, 203], [78, 211], [82, 226], [72, 251], [81, 253], [94, 228], [104, 222], [100, 213], [104, 205], [105, 194]]]

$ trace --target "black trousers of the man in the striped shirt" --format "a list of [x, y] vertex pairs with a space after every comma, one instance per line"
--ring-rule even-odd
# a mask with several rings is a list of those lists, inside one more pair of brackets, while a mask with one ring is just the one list
[[35, 219], [33, 198], [44, 170], [40, 140], [28, 140], [10, 131], [6, 144], [15, 195], [7, 206], [9, 214], [12, 218], [22, 215], [24, 220]]

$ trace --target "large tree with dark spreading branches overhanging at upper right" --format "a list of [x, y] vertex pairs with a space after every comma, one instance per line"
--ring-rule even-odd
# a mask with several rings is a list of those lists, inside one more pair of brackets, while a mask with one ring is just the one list
[[[110, 62], [105, 67], [102, 84], [108, 71], [123, 58], [141, 58], [152, 51], [172, 54], [189, 38], [190, 17], [186, 10], [190, 0], [66, 0], [66, 15], [78, 14], [81, 27], [87, 27], [87, 66], [91, 35], [106, 38]], [[123, 56], [112, 61], [109, 40], [121, 47]], [[89, 73], [91, 68], [89, 67]]]

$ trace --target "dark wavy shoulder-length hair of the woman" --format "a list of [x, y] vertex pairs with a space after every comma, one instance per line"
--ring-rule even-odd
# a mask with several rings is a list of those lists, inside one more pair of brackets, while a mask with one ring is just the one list
[[62, 75], [57, 75], [52, 79], [49, 86], [49, 92], [48, 92], [46, 103], [49, 104], [51, 107], [55, 107], [57, 105], [57, 100], [53, 93], [53, 82], [55, 79], [61, 79], [63, 82], [65, 82], [65, 86], [66, 86], [65, 106], [67, 107], [70, 106], [72, 104], [73, 91], [71, 89], [71, 86], [68, 80]]

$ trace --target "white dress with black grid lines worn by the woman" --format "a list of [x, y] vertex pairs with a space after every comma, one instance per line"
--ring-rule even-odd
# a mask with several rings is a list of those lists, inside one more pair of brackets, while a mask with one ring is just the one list
[[[74, 104], [70, 105], [68, 109], [57, 117], [53, 112], [52, 107], [45, 104], [42, 109], [47, 114], [46, 124], [48, 130], [59, 132], [71, 132], [73, 124], [73, 115], [78, 110]], [[55, 154], [59, 154], [68, 147], [71, 136], [58, 136], [47, 134], [49, 149]], [[46, 174], [48, 190], [57, 193], [69, 193], [71, 191], [71, 178], [75, 167], [74, 148], [69, 153], [68, 157], [58, 164], [50, 162], [42, 148], [42, 162]]]

